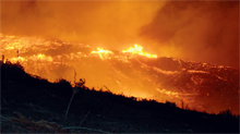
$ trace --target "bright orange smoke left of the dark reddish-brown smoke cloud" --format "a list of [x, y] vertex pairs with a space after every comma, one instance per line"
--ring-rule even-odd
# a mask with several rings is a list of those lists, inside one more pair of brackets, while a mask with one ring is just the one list
[[79, 41], [122, 49], [136, 44], [165, 2], [158, 1], [4, 1], [2, 33]]

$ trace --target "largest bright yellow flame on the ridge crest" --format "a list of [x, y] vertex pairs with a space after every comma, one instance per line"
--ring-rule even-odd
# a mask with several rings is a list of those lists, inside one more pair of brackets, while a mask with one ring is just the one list
[[144, 56], [147, 58], [157, 58], [156, 54], [143, 52], [143, 47], [136, 44], [134, 45], [134, 48], [130, 47], [128, 50], [122, 50], [122, 52], [130, 52], [132, 54], [140, 54], [140, 56]]

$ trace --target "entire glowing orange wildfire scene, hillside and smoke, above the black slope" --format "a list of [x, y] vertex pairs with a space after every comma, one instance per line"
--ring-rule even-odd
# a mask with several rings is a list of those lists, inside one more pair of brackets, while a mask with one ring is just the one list
[[50, 82], [239, 113], [237, 1], [2, 1], [0, 36]]

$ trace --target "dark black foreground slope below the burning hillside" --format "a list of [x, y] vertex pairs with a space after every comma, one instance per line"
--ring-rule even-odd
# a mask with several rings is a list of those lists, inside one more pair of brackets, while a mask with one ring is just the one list
[[230, 111], [207, 114], [175, 103], [136, 101], [85, 86], [72, 96], [69, 82], [49, 83], [26, 74], [20, 64], [1, 64], [1, 133], [239, 133]]

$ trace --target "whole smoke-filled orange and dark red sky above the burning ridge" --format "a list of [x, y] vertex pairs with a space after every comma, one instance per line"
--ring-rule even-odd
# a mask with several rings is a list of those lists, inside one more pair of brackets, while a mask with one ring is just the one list
[[238, 1], [1, 1], [1, 33], [239, 66]]

